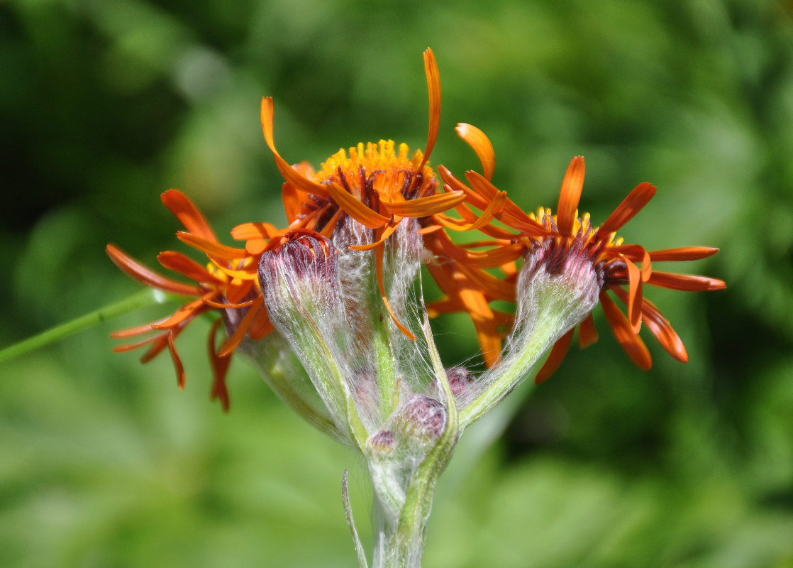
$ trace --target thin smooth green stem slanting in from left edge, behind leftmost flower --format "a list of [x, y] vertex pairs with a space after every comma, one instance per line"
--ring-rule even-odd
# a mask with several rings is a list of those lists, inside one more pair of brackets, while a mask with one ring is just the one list
[[49, 343], [62, 340], [64, 337], [74, 335], [77, 332], [82, 332], [84, 329], [92, 328], [94, 325], [102, 324], [113, 317], [121, 316], [121, 314], [132, 312], [147, 305], [163, 304], [170, 301], [172, 297], [170, 294], [151, 288], [140, 290], [140, 292], [136, 292], [124, 300], [105, 305], [103, 308], [86, 313], [84, 316], [77, 317], [64, 324], [56, 325], [54, 328], [49, 328], [36, 336], [29, 337], [0, 350], [0, 363], [13, 359], [17, 355], [24, 355], [29, 351], [44, 347], [44, 345]]

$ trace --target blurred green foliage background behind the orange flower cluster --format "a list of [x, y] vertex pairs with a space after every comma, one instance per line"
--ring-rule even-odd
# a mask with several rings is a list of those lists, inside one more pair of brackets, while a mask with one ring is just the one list
[[[647, 292], [691, 361], [646, 336], [646, 373], [599, 310], [600, 341], [502, 416], [496, 443], [466, 433], [425, 565], [793, 566], [793, 20], [779, 2], [0, 3], [0, 345], [137, 290], [105, 243], [150, 266], [185, 250], [169, 187], [221, 235], [282, 221], [262, 95], [289, 161], [381, 137], [423, 148], [427, 45], [443, 86], [434, 163], [478, 167], [454, 135], [466, 121], [524, 209], [555, 206], [577, 154], [595, 221], [653, 182], [621, 234], [718, 246], [684, 268], [730, 287]], [[0, 565], [353, 566], [344, 468], [370, 539], [353, 453], [241, 358], [232, 412], [210, 404], [208, 322], [178, 342], [184, 392], [167, 355], [113, 355], [108, 332], [167, 308], [144, 311], [0, 364]], [[464, 320], [437, 329], [448, 363], [476, 353]]]

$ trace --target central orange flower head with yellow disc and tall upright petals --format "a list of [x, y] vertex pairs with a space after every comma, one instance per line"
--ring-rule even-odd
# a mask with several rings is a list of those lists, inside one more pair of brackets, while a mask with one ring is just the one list
[[[320, 171], [308, 163], [289, 166], [275, 147], [273, 99], [262, 99], [262, 130], [276, 166], [286, 180], [282, 196], [288, 229], [307, 228], [330, 237], [342, 216], [352, 217], [374, 230], [374, 242], [351, 246], [354, 250], [374, 249], [377, 264], [377, 286], [382, 301], [397, 327], [405, 336], [414, 338], [394, 315], [383, 285], [383, 254], [385, 241], [393, 235], [404, 217], [429, 217], [462, 203], [462, 191], [437, 193], [435, 172], [427, 165], [438, 136], [441, 86], [438, 64], [432, 50], [424, 52], [424, 70], [430, 101], [430, 125], [424, 152], [408, 155], [408, 146], [400, 144], [395, 151], [392, 140], [377, 144], [358, 144], [331, 155]], [[245, 248], [252, 254], [270, 250], [275, 244], [262, 224], [239, 225], [232, 235], [246, 240]]]

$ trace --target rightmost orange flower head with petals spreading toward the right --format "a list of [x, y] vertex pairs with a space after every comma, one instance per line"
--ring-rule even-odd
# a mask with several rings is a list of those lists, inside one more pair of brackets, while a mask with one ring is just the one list
[[[588, 268], [596, 275], [598, 297], [603, 311], [617, 340], [623, 349], [642, 369], [649, 369], [652, 359], [645, 343], [638, 336], [644, 322], [656, 337], [661, 347], [682, 363], [688, 361], [683, 341], [661, 312], [643, 294], [644, 284], [671, 288], [673, 290], [722, 290], [726, 283], [717, 278], [690, 274], [672, 274], [653, 270], [653, 263], [660, 261], [684, 261], [707, 258], [718, 252], [718, 248], [686, 247], [663, 251], [646, 251], [639, 244], [623, 244], [616, 232], [623, 228], [653, 198], [656, 188], [641, 183], [627, 195], [600, 227], [593, 227], [589, 214], [578, 216], [578, 202], [584, 186], [584, 158], [577, 156], [570, 163], [561, 184], [557, 214], [550, 209], [539, 209], [535, 218], [550, 235], [531, 239], [530, 256], [539, 252], [544, 259], [546, 271], [571, 269], [571, 265]], [[626, 305], [626, 313], [611, 299], [611, 290]], [[579, 328], [579, 343], [582, 347], [597, 340], [592, 314], [584, 319]], [[553, 374], [573, 338], [573, 329], [562, 336], [554, 345], [545, 365], [539, 370], [536, 382], [542, 382]]]

